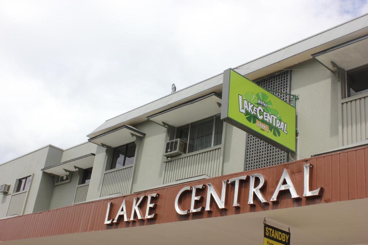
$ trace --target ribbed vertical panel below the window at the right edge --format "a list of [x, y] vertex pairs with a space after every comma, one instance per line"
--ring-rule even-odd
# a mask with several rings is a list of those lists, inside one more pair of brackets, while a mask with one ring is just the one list
[[343, 145], [368, 138], [368, 95], [344, 99], [342, 104]]

